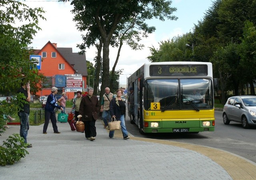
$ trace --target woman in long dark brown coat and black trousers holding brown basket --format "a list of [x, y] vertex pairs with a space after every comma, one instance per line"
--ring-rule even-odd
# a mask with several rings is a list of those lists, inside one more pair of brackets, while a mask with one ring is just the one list
[[100, 104], [97, 96], [92, 95], [92, 87], [88, 87], [87, 92], [88, 94], [82, 97], [79, 107], [79, 115], [77, 117], [82, 117], [86, 139], [93, 141], [96, 136], [95, 122], [98, 118], [98, 113], [100, 112]]

